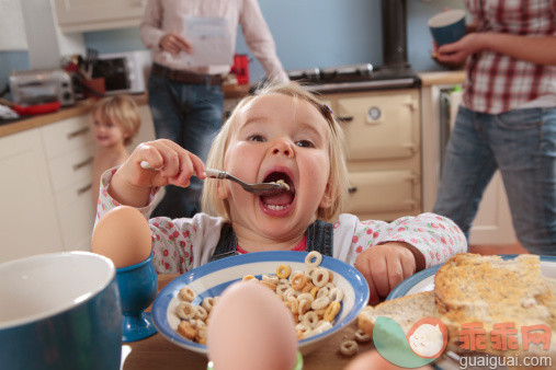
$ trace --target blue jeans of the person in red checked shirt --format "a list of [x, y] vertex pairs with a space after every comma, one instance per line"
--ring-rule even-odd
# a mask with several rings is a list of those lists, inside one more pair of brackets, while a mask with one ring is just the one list
[[459, 107], [433, 211], [467, 235], [500, 169], [520, 243], [556, 255], [556, 107], [489, 115]]

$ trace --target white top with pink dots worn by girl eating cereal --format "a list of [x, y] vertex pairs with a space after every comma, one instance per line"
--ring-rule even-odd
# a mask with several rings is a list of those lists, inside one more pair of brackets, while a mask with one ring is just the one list
[[[112, 208], [120, 206], [107, 192], [117, 167], [107, 170], [101, 177], [97, 222]], [[150, 201], [138, 210], [149, 219], [160, 197], [160, 188], [151, 188]], [[183, 274], [209, 262], [220, 239], [225, 220], [206, 213], [193, 218], [149, 219], [152, 235], [152, 264], [161, 274]], [[354, 215], [342, 213], [333, 223], [332, 257], [354, 265], [358, 256], [381, 243], [404, 242], [419, 250], [425, 267], [445, 263], [456, 253], [467, 252], [464, 233], [454, 221], [434, 213], [407, 216], [393, 222], [360, 220]], [[241, 253], [240, 248], [236, 248]], [[305, 243], [294, 248], [305, 250]]]

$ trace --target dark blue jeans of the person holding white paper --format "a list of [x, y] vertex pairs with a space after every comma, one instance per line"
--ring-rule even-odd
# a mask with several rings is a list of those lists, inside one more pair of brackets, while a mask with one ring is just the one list
[[[151, 73], [148, 90], [157, 138], [170, 139], [205, 162], [223, 120], [222, 88], [184, 84]], [[202, 188], [203, 182], [195, 176], [186, 188], [168, 185], [152, 216], [193, 217], [201, 210]]]

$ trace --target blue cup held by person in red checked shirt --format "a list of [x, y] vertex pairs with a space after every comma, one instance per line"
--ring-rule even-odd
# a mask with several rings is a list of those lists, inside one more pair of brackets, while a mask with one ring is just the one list
[[461, 9], [442, 12], [429, 20], [429, 28], [432, 38], [440, 47], [444, 44], [452, 44], [465, 36], [465, 11]]

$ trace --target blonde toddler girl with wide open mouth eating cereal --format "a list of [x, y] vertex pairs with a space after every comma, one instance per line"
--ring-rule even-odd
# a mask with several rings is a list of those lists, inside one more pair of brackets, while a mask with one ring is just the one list
[[[238, 253], [318, 251], [354, 265], [376, 303], [416, 271], [466, 251], [462, 231], [438, 215], [392, 223], [340, 215], [348, 196], [342, 140], [330, 108], [295, 83], [243, 99], [213, 142], [207, 166], [248, 183], [283, 180], [290, 190], [257, 196], [228, 181], [206, 180], [204, 212], [149, 220], [156, 269], [183, 274]], [[145, 170], [141, 161], [161, 170]], [[148, 218], [158, 187], [185, 187], [193, 175], [206, 178], [205, 164], [177, 143], [139, 144], [122, 166], [102, 175], [98, 218], [117, 205]]]

